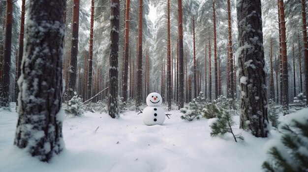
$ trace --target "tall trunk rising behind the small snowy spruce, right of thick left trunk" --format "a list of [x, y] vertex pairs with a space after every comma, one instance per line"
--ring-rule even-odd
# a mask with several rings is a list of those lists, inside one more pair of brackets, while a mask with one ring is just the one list
[[[77, 54], [78, 54], [78, 31], [79, 31], [79, 0], [73, 1], [72, 43], [70, 50], [70, 69], [68, 78], [68, 100], [76, 91], [77, 77]], [[90, 76], [89, 76], [90, 77]], [[91, 80], [91, 78], [89, 78]]]

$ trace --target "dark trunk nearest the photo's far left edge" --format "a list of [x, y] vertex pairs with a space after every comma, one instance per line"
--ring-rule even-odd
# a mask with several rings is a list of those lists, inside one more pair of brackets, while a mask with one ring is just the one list
[[13, 1], [7, 0], [6, 5], [6, 28], [3, 55], [2, 93], [0, 106], [8, 107], [10, 99], [10, 67], [11, 67], [11, 47], [12, 47], [12, 14]]

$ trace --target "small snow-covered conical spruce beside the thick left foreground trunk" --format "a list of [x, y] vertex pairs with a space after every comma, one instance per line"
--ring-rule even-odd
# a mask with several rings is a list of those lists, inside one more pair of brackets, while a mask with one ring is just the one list
[[82, 102], [82, 98], [78, 97], [77, 93], [74, 92], [74, 96], [68, 101], [64, 112], [67, 115], [82, 116], [85, 112], [85, 105]]

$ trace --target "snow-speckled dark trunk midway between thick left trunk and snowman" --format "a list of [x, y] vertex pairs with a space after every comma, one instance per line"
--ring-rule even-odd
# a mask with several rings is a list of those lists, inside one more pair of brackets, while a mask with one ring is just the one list
[[109, 55], [109, 93], [108, 93], [108, 113], [112, 118], [119, 118], [119, 101], [118, 101], [118, 57], [119, 57], [119, 17], [120, 2], [119, 0], [111, 0], [110, 10], [110, 55]]

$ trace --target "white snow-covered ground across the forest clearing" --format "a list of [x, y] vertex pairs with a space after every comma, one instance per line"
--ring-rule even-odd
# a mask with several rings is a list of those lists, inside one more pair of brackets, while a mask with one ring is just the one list
[[[13, 146], [18, 115], [0, 111], [0, 172], [262, 172], [271, 139], [255, 138], [241, 129], [244, 141], [232, 135], [210, 136], [211, 120], [192, 122], [168, 112], [163, 125], [147, 126], [141, 115], [128, 111], [112, 119], [86, 112], [65, 118], [65, 149], [50, 163], [42, 163]], [[284, 121], [286, 116], [280, 117]], [[234, 116], [239, 128], [239, 116]]]

